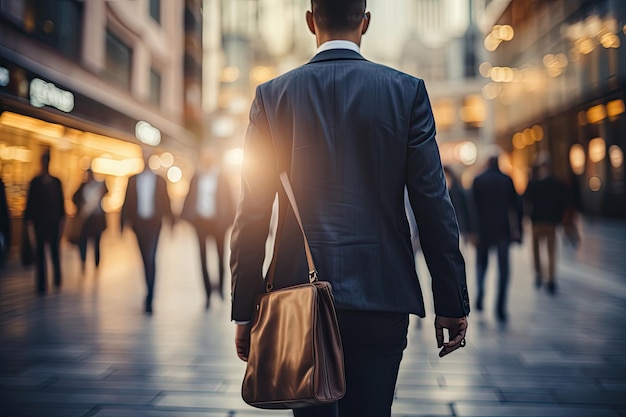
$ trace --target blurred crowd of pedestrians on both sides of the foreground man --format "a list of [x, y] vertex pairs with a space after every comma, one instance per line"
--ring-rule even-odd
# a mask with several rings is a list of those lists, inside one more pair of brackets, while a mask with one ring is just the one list
[[[206, 294], [206, 308], [210, 308], [213, 291], [222, 299], [227, 285], [224, 282], [227, 233], [235, 215], [235, 197], [220, 164], [220, 155], [212, 149], [201, 150], [197, 171], [191, 179], [189, 191], [180, 214], [174, 214], [166, 182], [148, 166], [149, 149], [144, 153], [142, 172], [129, 178], [124, 205], [121, 210], [120, 230], [130, 228], [136, 236], [144, 267], [146, 293], [144, 309], [152, 314], [156, 271], [157, 246], [161, 228], [174, 227], [176, 222], [190, 223], [197, 235]], [[485, 278], [490, 252], [497, 253], [496, 316], [507, 320], [507, 292], [510, 275], [509, 248], [524, 238], [524, 218], [531, 227], [532, 262], [537, 288], [545, 287], [550, 294], [557, 292], [557, 242], [562, 228], [564, 236], [576, 246], [579, 241], [577, 210], [573, 190], [553, 175], [548, 159], [539, 159], [533, 167], [528, 186], [522, 195], [516, 192], [511, 178], [500, 170], [499, 155], [490, 156], [484, 169], [469, 188], [464, 188], [454, 169], [445, 166], [450, 200], [456, 211], [460, 237], [476, 251], [476, 294], [472, 294], [474, 308], [485, 308]], [[75, 214], [66, 216], [61, 181], [50, 174], [50, 154], [41, 157], [41, 171], [29, 184], [23, 233], [20, 236], [20, 257], [24, 265], [35, 265], [35, 290], [45, 294], [48, 288], [47, 257], [52, 265], [52, 283], [62, 284], [60, 241], [65, 238], [78, 248], [84, 273], [88, 249], [95, 268], [100, 265], [100, 239], [107, 227], [102, 199], [107, 194], [104, 182], [98, 181], [91, 169], [84, 172], [83, 182], [74, 192], [72, 202]], [[411, 226], [414, 251], [420, 250], [418, 225], [411, 216], [408, 199], [407, 216]], [[11, 233], [4, 184], [0, 180], [0, 267], [6, 261], [11, 247]], [[215, 242], [218, 276], [210, 277], [207, 241]], [[471, 266], [467, 266], [468, 268]]]

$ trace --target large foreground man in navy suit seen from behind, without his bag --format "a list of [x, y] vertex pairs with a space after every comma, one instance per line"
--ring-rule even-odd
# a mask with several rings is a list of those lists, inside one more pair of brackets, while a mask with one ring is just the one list
[[[296, 416], [376, 416], [391, 404], [409, 314], [425, 315], [404, 205], [408, 190], [432, 275], [441, 356], [465, 344], [469, 300], [454, 209], [424, 82], [364, 59], [364, 0], [312, 0], [318, 52], [260, 85], [244, 145], [242, 194], [231, 238], [232, 319], [247, 359], [254, 300], [280, 190], [293, 185], [320, 279], [332, 284], [344, 347], [346, 395]], [[282, 235], [275, 287], [306, 281], [302, 234], [279, 192]], [[449, 331], [444, 342], [443, 329]]]

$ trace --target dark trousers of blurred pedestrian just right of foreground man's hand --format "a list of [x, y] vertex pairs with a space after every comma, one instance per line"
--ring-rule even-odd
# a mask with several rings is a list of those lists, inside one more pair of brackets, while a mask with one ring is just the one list
[[[501, 241], [493, 246], [498, 251], [498, 299], [496, 310], [498, 315], [503, 318], [506, 315], [506, 296], [509, 285], [509, 242]], [[490, 247], [490, 245], [481, 243], [476, 246], [476, 280], [478, 284], [476, 307], [478, 310], [482, 310], [485, 295], [485, 275], [487, 274]]]

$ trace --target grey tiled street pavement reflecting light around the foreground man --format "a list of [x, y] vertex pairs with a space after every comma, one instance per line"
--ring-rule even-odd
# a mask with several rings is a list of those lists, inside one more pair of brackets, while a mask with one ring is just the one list
[[[470, 315], [465, 349], [439, 359], [433, 316], [412, 318], [394, 416], [626, 417], [626, 225], [583, 226], [583, 245], [561, 250], [554, 297], [533, 287], [529, 239], [513, 248], [509, 321], [495, 320], [490, 287], [485, 312]], [[152, 317], [141, 312], [131, 234], [106, 232], [97, 274], [82, 276], [77, 257], [63, 248], [63, 287], [45, 297], [34, 295], [32, 271], [13, 262], [0, 272], [0, 416], [290, 415], [240, 399], [244, 364], [229, 305], [216, 297], [204, 310], [187, 225], [163, 232]], [[421, 258], [418, 270], [426, 271]]]

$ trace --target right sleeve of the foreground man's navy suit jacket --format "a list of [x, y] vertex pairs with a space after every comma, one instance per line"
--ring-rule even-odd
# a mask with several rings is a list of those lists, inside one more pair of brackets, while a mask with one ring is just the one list
[[465, 262], [459, 250], [456, 215], [435, 141], [435, 121], [421, 80], [410, 120], [407, 190], [432, 277], [435, 313], [463, 317], [469, 314]]

